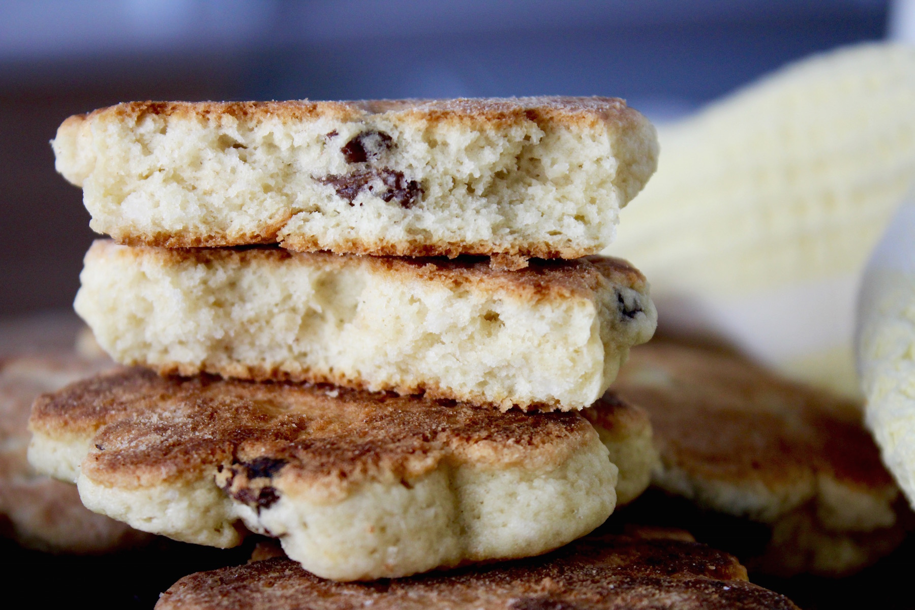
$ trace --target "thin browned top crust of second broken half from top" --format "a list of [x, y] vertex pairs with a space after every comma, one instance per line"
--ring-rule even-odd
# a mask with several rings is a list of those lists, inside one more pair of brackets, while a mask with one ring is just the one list
[[292, 252], [272, 246], [170, 249], [122, 246], [111, 240], [96, 240], [86, 254], [87, 260], [108, 256], [155, 261], [164, 266], [207, 265], [213, 262], [232, 266], [273, 266], [298, 262], [327, 269], [362, 266], [374, 273], [390, 274], [393, 278], [504, 290], [525, 298], [588, 298], [602, 284], [622, 285], [639, 292], [648, 289], [645, 276], [638, 269], [622, 259], [607, 256], [587, 256], [572, 261], [531, 259], [527, 267], [509, 271], [493, 269], [488, 257], [479, 256], [455, 259], [359, 256], [331, 252]]

